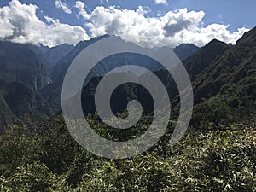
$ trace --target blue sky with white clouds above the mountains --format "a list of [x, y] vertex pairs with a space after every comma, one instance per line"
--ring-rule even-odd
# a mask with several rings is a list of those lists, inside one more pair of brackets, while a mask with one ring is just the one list
[[1, 0], [0, 39], [53, 47], [108, 34], [144, 47], [235, 44], [255, 26], [255, 8], [255, 0]]

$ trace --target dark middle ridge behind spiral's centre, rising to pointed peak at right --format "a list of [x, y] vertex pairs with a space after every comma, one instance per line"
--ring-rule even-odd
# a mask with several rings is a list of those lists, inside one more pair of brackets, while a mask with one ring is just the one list
[[[198, 74], [202, 73], [205, 68], [207, 68], [213, 61], [218, 59], [218, 56], [222, 55], [225, 50], [230, 49], [230, 47], [230, 44], [225, 44], [218, 40], [212, 40], [205, 47], [196, 51], [194, 55], [191, 55], [186, 61], [183, 62], [183, 65], [187, 69], [191, 79], [195, 79]], [[178, 95], [178, 90], [177, 84], [172, 79], [171, 74], [163, 69], [155, 71], [154, 73], [159, 77], [162, 83], [165, 84], [166, 90], [172, 101], [172, 99]], [[145, 75], [147, 76], [148, 74], [143, 74], [143, 76]], [[143, 77], [135, 76], [134, 78], [137, 78], [139, 81], [139, 79]], [[102, 77], [91, 79], [90, 83], [84, 87], [82, 92], [82, 105], [85, 115], [88, 113], [96, 113], [94, 94], [97, 84], [101, 79]], [[148, 84], [150, 84], [150, 81], [148, 81]], [[120, 85], [116, 90], [114, 90], [111, 99], [113, 113], [124, 111], [127, 103], [132, 99], [136, 99], [141, 102], [144, 113], [153, 112], [154, 102], [152, 100], [152, 96], [150, 96], [148, 93], [148, 90], [144, 89], [138, 84], [129, 83]], [[175, 107], [177, 102], [173, 102], [172, 105]]]

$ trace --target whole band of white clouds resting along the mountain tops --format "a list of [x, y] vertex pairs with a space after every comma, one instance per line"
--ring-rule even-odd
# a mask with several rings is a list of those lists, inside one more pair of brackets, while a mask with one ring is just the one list
[[[55, 0], [55, 5], [69, 12], [66, 3]], [[148, 14], [150, 9], [142, 6], [137, 10], [96, 6], [89, 11], [82, 1], [76, 1], [73, 7], [77, 9], [77, 15], [83, 18], [84, 27], [64, 24], [48, 15], [44, 16], [45, 22], [38, 18], [36, 5], [12, 0], [8, 6], [0, 8], [0, 38], [12, 42], [54, 46], [76, 44], [84, 39], [108, 34], [119, 35], [143, 46], [174, 47], [181, 43], [203, 46], [212, 38], [235, 43], [248, 30], [242, 27], [236, 32], [230, 32], [228, 25], [218, 23], [206, 26], [203, 23], [206, 14], [204, 11], [177, 9], [154, 16]]]

